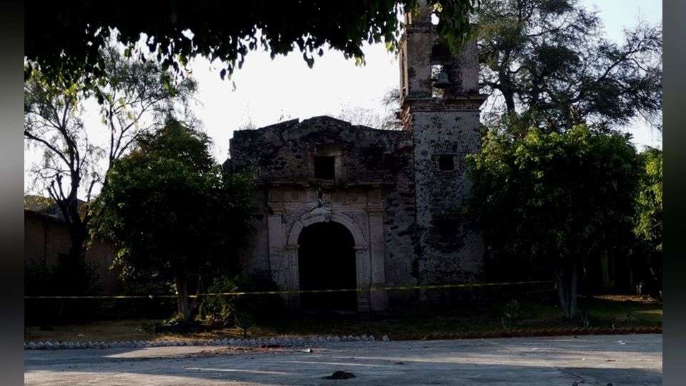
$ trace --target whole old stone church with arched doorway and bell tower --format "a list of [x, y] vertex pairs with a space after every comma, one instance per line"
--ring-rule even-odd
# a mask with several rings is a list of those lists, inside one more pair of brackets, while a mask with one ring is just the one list
[[[476, 44], [454, 56], [429, 12], [406, 16], [399, 56], [402, 131], [331, 117], [234, 132], [227, 166], [257, 169], [260, 215], [244, 273], [281, 289], [292, 310], [369, 311], [431, 301], [431, 291], [377, 290], [474, 282], [483, 244], [457, 209], [464, 157], [480, 146]], [[440, 301], [440, 300], [439, 300]]]

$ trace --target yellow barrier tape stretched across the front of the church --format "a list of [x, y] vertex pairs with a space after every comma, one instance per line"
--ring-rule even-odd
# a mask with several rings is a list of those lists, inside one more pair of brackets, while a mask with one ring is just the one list
[[[435, 284], [435, 285], [404, 285], [404, 286], [381, 286], [370, 288], [347, 288], [347, 289], [292, 289], [284, 291], [255, 291], [255, 292], [208, 292], [187, 297], [204, 296], [244, 296], [244, 295], [298, 295], [319, 294], [328, 292], [367, 292], [367, 291], [406, 291], [409, 289], [446, 289], [446, 288], [474, 288], [474, 287], [498, 287], [517, 284], [554, 284], [552, 280], [538, 282], [504, 282], [504, 283], [470, 283], [470, 284]], [[179, 295], [93, 295], [93, 296], [25, 296], [24, 299], [155, 299], [155, 298], [178, 298]]]

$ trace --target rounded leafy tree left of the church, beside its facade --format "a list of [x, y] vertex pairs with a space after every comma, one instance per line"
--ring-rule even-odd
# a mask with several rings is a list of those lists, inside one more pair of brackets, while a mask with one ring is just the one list
[[222, 172], [207, 135], [173, 120], [136, 143], [109, 172], [93, 232], [120, 248], [114, 264], [125, 280], [174, 282], [189, 320], [189, 284], [237, 270], [251, 230], [252, 175]]

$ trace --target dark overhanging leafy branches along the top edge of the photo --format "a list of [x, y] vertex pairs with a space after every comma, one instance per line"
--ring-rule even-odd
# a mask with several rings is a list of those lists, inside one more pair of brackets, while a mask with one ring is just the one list
[[[440, 14], [439, 34], [456, 48], [472, 33], [469, 11], [477, 0], [429, 0]], [[117, 1], [106, 11], [92, 1], [44, 4], [26, 11], [24, 71], [34, 69], [49, 79], [85, 79], [104, 75], [98, 50], [111, 37], [128, 46], [127, 54], [156, 55], [163, 69], [182, 74], [197, 55], [224, 62], [224, 75], [242, 66], [248, 51], [261, 47], [287, 54], [297, 47], [309, 66], [324, 48], [363, 61], [365, 41], [399, 46], [397, 14], [416, 9], [419, 0], [372, 1]], [[116, 31], [115, 31], [116, 29]], [[144, 34], [144, 41], [136, 45]]]

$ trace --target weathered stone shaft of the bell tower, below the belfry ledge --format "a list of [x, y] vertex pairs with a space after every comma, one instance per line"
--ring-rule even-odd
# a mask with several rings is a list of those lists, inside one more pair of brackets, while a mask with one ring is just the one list
[[[479, 149], [479, 113], [415, 111], [412, 121], [419, 277], [424, 284], [473, 282], [483, 245], [459, 207], [471, 186], [464, 157]], [[452, 168], [443, 170], [441, 157], [452, 159]]]

